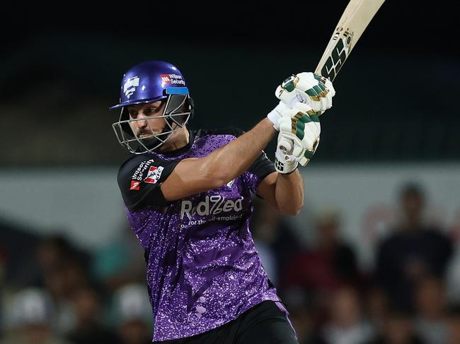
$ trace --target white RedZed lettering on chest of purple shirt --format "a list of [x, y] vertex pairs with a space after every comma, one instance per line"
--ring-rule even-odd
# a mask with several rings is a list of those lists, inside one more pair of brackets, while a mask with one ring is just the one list
[[239, 212], [243, 209], [243, 198], [241, 196], [236, 201], [232, 201], [220, 195], [206, 196], [205, 201], [199, 202], [196, 206], [193, 206], [192, 201], [182, 201], [180, 203], [180, 220], [185, 215], [191, 220], [194, 215], [208, 216], [229, 213], [229, 211]]

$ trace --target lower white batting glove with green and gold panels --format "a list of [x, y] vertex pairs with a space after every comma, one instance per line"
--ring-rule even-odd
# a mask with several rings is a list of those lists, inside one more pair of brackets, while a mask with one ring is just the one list
[[318, 112], [301, 102], [294, 103], [293, 109], [285, 109], [278, 120], [277, 150], [275, 169], [289, 173], [296, 169], [297, 163], [305, 166], [313, 158], [318, 148], [321, 124]]

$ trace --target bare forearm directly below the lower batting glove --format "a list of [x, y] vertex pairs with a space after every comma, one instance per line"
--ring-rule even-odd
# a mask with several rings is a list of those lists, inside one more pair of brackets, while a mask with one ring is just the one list
[[299, 170], [291, 174], [279, 173], [276, 180], [275, 199], [281, 213], [297, 215], [304, 206], [304, 179]]

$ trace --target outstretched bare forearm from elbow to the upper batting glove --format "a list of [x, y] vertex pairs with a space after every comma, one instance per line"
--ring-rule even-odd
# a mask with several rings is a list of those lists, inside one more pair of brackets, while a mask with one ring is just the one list
[[228, 183], [248, 170], [276, 133], [272, 122], [265, 118], [247, 133], [209, 154], [207, 165], [222, 184]]

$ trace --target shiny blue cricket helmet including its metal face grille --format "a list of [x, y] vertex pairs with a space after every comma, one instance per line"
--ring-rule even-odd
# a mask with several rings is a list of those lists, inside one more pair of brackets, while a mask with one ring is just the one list
[[[126, 107], [158, 100], [165, 102], [160, 117], [166, 120], [166, 126], [160, 134], [140, 138], [131, 127], [138, 119], [130, 119]], [[131, 153], [142, 154], [158, 148], [181, 129], [193, 116], [194, 105], [185, 78], [176, 66], [166, 61], [144, 61], [123, 76], [120, 103], [110, 107], [118, 108], [121, 108], [120, 119], [112, 125], [115, 136]]]

